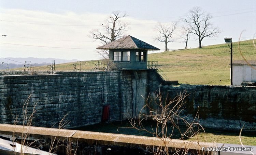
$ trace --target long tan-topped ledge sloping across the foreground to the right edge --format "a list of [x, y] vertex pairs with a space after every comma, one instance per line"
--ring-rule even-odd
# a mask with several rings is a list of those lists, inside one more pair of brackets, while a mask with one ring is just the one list
[[[34, 127], [34, 126], [22, 126], [22, 125], [10, 125], [0, 124], [0, 136], [10, 138], [13, 135], [21, 135], [22, 133], [29, 134], [32, 139], [49, 139], [56, 137], [59, 140], [66, 138], [78, 139], [78, 143], [95, 144], [96, 145], [108, 145], [108, 146], [120, 146], [120, 147], [141, 147], [146, 149], [146, 146], [162, 146], [164, 147], [164, 140], [155, 137], [145, 136], [133, 136], [123, 134], [111, 134], [111, 133], [99, 133], [99, 132], [88, 132], [88, 131], [77, 131], [77, 130], [65, 130], [57, 128], [46, 128], [46, 127]], [[75, 140], [74, 140], [75, 141]], [[205, 148], [217, 148], [223, 147], [227, 144], [222, 143], [208, 143], [190, 140], [177, 140], [177, 139], [165, 139], [166, 146], [168, 149], [186, 149], [191, 152], [205, 151]], [[232, 147], [234, 144], [229, 144]], [[97, 146], [97, 147], [98, 147]], [[242, 147], [236, 145], [235, 147]], [[247, 146], [249, 147], [249, 146]], [[252, 147], [256, 151], [256, 147]], [[214, 151], [206, 150], [207, 154], [228, 154], [227, 151]], [[234, 154], [235, 152], [230, 152]], [[239, 152], [239, 154], [246, 154], [247, 152]], [[251, 152], [248, 152], [251, 154]]]

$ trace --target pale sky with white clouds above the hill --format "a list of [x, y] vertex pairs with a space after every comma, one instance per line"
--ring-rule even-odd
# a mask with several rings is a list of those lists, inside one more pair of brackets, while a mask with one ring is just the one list
[[[95, 60], [100, 59], [96, 48], [102, 43], [88, 37], [93, 29], [101, 29], [103, 21], [113, 11], [126, 12], [122, 21], [129, 23], [127, 35], [147, 42], [162, 52], [163, 42], [155, 41], [156, 24], [178, 27], [168, 49], [183, 49], [180, 28], [193, 7], [201, 7], [213, 16], [218, 27], [216, 37], [204, 38], [203, 46], [253, 39], [256, 29], [256, 0], [0, 0], [0, 57], [37, 57]], [[197, 48], [196, 36], [190, 36], [188, 48]], [[7, 61], [7, 60], [6, 60]], [[9, 62], [10, 63], [10, 62]]]

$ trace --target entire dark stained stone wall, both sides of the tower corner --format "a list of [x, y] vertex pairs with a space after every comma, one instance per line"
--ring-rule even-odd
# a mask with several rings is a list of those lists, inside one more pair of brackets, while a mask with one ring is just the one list
[[[66, 128], [101, 122], [104, 105], [109, 121], [137, 116], [150, 94], [174, 98], [187, 91], [184, 115], [195, 117], [199, 107], [203, 127], [256, 130], [256, 88], [249, 86], [160, 85], [156, 71], [56, 72], [53, 75], [0, 76], [0, 122], [23, 124], [23, 106], [33, 111], [33, 126]], [[159, 89], [160, 88], [160, 89]], [[26, 107], [24, 107], [26, 108]], [[142, 111], [147, 113], [147, 111]], [[26, 122], [26, 121], [25, 121]]]

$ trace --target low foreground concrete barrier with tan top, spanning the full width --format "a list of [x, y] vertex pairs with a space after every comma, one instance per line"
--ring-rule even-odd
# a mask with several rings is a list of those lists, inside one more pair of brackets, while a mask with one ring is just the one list
[[[86, 149], [94, 148], [97, 149], [97, 153], [104, 154], [104, 151], [120, 151], [125, 148], [129, 150], [132, 148], [133, 153], [138, 150], [146, 150], [146, 146], [162, 146], [165, 145], [169, 150], [176, 149], [187, 149], [188, 152], [194, 152], [198, 154], [213, 154], [213, 155], [249, 155], [256, 154], [256, 146], [242, 146], [238, 144], [224, 144], [224, 143], [208, 143], [198, 142], [189, 140], [177, 140], [177, 139], [166, 139], [164, 141], [160, 138], [145, 137], [145, 136], [132, 136], [122, 134], [110, 134], [110, 133], [99, 133], [99, 132], [88, 132], [88, 131], [77, 131], [77, 130], [65, 130], [57, 128], [46, 128], [46, 127], [34, 127], [34, 126], [21, 126], [21, 125], [9, 125], [0, 124], [0, 137], [9, 138], [12, 140], [12, 136], [16, 135], [18, 139], [19, 134], [27, 133], [30, 140], [44, 139], [47, 143], [49, 139], [56, 139], [56, 141], [63, 141], [66, 138], [72, 138], [73, 142], [76, 142], [79, 150], [77, 154], [82, 154]], [[90, 146], [90, 147], [88, 147]], [[99, 149], [100, 148], [100, 149]], [[107, 148], [104, 150], [104, 148]], [[111, 149], [112, 148], [112, 149]], [[113, 150], [116, 149], [116, 150]], [[136, 148], [136, 149], [134, 149]], [[45, 148], [47, 150], [47, 147]], [[95, 153], [95, 152], [94, 152]], [[116, 152], [115, 152], [116, 153]], [[138, 153], [138, 152], [137, 152]], [[92, 153], [93, 154], [93, 153]]]

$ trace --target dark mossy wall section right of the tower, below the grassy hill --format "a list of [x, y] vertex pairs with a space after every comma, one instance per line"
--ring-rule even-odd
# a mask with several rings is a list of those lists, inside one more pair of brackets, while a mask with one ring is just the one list
[[173, 99], [186, 91], [184, 115], [190, 119], [199, 110], [203, 127], [256, 130], [256, 88], [250, 86], [181, 85], [162, 86], [163, 97]]

